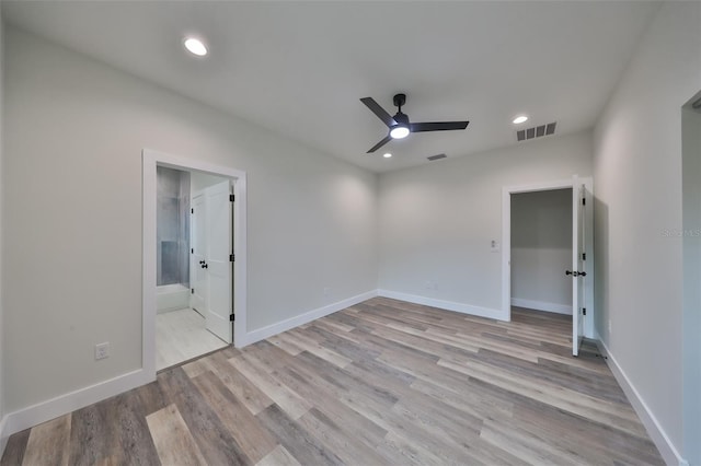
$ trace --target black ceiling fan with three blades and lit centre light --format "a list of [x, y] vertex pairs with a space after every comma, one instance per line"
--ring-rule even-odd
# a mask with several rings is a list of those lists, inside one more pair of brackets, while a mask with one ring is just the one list
[[384, 108], [380, 106], [372, 97], [363, 97], [363, 102], [379, 119], [387, 125], [390, 132], [384, 139], [382, 139], [367, 153], [372, 153], [387, 144], [392, 139], [402, 139], [409, 136], [410, 132], [423, 132], [423, 131], [448, 131], [451, 129], [466, 129], [470, 121], [433, 121], [433, 123], [410, 123], [409, 115], [402, 113], [402, 105], [406, 103], [406, 94], [394, 95], [394, 106], [399, 108], [397, 115], [393, 117], [388, 114]]

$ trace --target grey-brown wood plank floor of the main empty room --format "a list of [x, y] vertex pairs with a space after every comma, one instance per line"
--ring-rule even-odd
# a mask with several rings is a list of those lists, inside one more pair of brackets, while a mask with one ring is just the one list
[[566, 316], [372, 299], [12, 435], [2, 465], [663, 464]]

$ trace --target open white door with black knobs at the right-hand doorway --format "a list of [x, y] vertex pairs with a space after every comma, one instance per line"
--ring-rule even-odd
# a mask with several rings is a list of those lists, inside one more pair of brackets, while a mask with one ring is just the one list
[[572, 354], [579, 354], [584, 338], [584, 315], [586, 313], [586, 290], [588, 287], [586, 272], [587, 254], [587, 189], [575, 175], [572, 183]]

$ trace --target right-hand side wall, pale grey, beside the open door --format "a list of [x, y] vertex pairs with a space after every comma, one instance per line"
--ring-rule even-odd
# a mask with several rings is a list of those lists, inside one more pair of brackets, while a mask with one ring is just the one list
[[682, 228], [680, 107], [700, 83], [701, 3], [663, 2], [595, 131], [597, 330], [668, 462], [685, 450], [682, 249], [668, 232]]

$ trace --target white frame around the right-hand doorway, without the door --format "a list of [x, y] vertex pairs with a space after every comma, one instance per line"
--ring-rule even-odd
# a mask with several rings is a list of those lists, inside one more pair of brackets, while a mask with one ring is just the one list
[[[594, 198], [594, 180], [591, 177], [578, 177], [579, 183], [587, 187]], [[506, 186], [502, 188], [502, 314], [506, 316], [506, 321], [512, 319], [512, 195], [520, 193], [549, 191], [555, 189], [567, 189], [574, 187], [574, 179], [561, 179], [554, 182], [535, 183], [531, 185]], [[591, 202], [593, 203], [593, 200]], [[594, 278], [594, 206], [586, 209], [586, 229], [585, 236], [586, 251], [590, 252], [587, 257], [585, 271], [588, 277]], [[564, 271], [563, 271], [564, 272]], [[587, 302], [587, 315], [585, 317], [584, 336], [594, 338], [594, 280], [587, 280], [585, 289]]]

